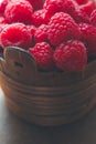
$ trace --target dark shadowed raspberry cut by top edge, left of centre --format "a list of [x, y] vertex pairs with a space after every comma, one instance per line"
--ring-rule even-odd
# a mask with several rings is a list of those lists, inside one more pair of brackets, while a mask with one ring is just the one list
[[40, 10], [43, 7], [44, 0], [28, 0], [34, 10]]

